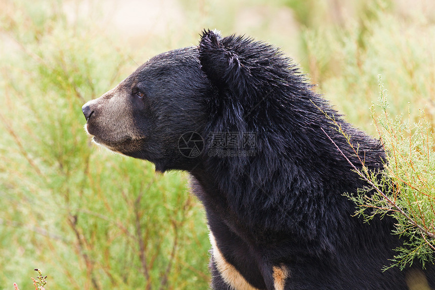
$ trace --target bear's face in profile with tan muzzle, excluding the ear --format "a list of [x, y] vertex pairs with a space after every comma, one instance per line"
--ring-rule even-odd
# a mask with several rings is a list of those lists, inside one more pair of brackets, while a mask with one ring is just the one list
[[192, 158], [178, 149], [186, 132], [201, 132], [210, 84], [198, 48], [166, 52], [141, 65], [115, 88], [83, 105], [93, 141], [156, 169], [186, 169]]

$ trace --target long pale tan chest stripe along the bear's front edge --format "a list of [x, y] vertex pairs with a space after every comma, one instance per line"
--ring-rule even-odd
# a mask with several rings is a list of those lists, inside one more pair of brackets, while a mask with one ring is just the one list
[[258, 290], [258, 288], [252, 287], [239, 271], [225, 260], [211, 231], [209, 236], [214, 263], [216, 268], [218, 268], [219, 273], [221, 273], [225, 283], [230, 285], [234, 290]]

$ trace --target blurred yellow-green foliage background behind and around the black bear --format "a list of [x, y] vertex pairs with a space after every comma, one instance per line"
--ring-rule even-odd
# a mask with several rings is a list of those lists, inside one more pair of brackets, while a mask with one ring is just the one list
[[[149, 162], [93, 146], [80, 110], [135, 61], [196, 45], [203, 28], [281, 47], [372, 134], [378, 74], [391, 113], [424, 107], [433, 127], [430, 2], [166, 0], [152, 18], [163, 28], [130, 36], [106, 23], [115, 18], [110, 3], [0, 1], [0, 289], [32, 288], [33, 268], [48, 275], [47, 289], [207, 287], [206, 223], [187, 176], [156, 175]], [[145, 22], [158, 3], [125, 21]]]

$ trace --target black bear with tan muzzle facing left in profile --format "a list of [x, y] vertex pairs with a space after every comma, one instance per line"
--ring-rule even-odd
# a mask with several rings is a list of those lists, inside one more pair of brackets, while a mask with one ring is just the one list
[[365, 183], [329, 137], [361, 163], [325, 113], [370, 170], [383, 167], [382, 146], [271, 45], [203, 31], [199, 46], [153, 57], [82, 111], [96, 143], [191, 174], [213, 289], [406, 289], [412, 271], [435, 287], [433, 265], [382, 271], [401, 244], [395, 221], [352, 217], [342, 194]]

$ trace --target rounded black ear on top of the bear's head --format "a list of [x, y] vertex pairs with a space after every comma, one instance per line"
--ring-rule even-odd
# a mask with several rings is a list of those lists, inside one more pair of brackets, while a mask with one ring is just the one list
[[[234, 36], [229, 38], [233, 39]], [[234, 93], [241, 93], [245, 85], [245, 73], [242, 69], [238, 53], [223, 44], [222, 38], [215, 31], [204, 30], [199, 43], [199, 61], [202, 70], [218, 90], [229, 89]]]

